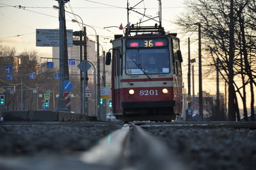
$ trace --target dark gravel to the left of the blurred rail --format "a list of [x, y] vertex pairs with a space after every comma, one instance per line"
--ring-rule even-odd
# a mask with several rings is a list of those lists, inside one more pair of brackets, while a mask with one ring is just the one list
[[0, 156], [85, 151], [122, 124], [84, 123], [8, 123], [0, 125]]

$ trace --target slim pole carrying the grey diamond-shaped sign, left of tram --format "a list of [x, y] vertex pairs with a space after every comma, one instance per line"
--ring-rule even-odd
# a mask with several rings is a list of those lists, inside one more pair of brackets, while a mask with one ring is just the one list
[[[86, 27], [84, 26], [84, 60], [87, 61], [87, 38]], [[88, 85], [88, 72], [84, 72], [84, 114], [88, 115], [88, 97], [85, 95], [85, 88]]]

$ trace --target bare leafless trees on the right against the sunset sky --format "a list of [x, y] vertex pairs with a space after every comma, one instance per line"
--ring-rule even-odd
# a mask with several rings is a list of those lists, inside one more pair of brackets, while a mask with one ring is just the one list
[[[188, 13], [177, 19], [177, 24], [186, 31], [196, 31], [195, 23], [202, 25], [204, 50], [211, 54], [209, 65], [216, 66], [216, 59], [220, 60], [220, 73], [228, 83], [228, 118], [236, 120], [239, 109], [236, 92], [242, 99], [246, 98], [245, 88], [251, 88], [251, 112], [253, 108], [253, 78], [255, 79], [255, 2], [249, 0], [198, 0], [186, 1]], [[254, 23], [254, 24], [253, 24]], [[241, 61], [243, 58], [243, 61]], [[253, 61], [254, 59], [254, 61]], [[254, 74], [254, 75], [253, 75]], [[244, 82], [242, 87], [234, 81], [240, 77]], [[235, 88], [236, 87], [236, 88]], [[243, 94], [241, 93], [243, 89]], [[243, 107], [246, 109], [246, 100]]]

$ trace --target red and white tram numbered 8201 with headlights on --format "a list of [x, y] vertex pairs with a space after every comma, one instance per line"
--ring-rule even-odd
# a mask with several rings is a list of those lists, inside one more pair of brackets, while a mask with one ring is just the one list
[[166, 35], [163, 27], [130, 27], [125, 36], [115, 35], [111, 91], [116, 118], [170, 121], [181, 114], [182, 56], [176, 36]]

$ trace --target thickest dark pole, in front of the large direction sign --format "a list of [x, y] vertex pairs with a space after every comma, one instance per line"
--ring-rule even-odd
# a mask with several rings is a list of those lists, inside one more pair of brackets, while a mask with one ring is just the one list
[[59, 22], [60, 22], [60, 96], [58, 98], [59, 111], [67, 111], [64, 98], [64, 86], [63, 82], [68, 81], [68, 56], [67, 56], [67, 29], [65, 21], [65, 8], [64, 4], [69, 0], [58, 0], [59, 3]]

